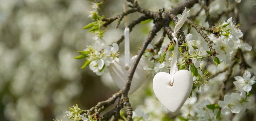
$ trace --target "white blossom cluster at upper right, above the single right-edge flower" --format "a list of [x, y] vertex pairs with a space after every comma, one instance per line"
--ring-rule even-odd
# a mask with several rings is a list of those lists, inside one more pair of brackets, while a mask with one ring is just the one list
[[214, 33], [218, 36], [210, 34], [209, 38], [214, 43], [213, 48], [219, 53], [217, 57], [220, 61], [230, 63], [237, 49], [251, 51], [252, 47], [241, 39], [243, 32], [238, 29], [239, 25], [234, 24], [232, 17], [215, 27]]

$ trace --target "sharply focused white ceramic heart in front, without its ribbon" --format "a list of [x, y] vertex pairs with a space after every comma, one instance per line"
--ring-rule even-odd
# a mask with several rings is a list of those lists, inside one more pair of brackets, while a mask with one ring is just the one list
[[188, 70], [180, 70], [175, 72], [172, 86], [169, 82], [170, 74], [159, 72], [154, 76], [153, 90], [162, 105], [175, 113], [187, 100], [193, 87], [193, 78]]

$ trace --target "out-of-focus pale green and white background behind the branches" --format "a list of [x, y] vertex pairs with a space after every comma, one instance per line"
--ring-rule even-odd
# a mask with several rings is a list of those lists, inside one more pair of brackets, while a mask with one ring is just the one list
[[[78, 104], [88, 109], [119, 90], [111, 77], [96, 76], [88, 68], [81, 70], [83, 60], [73, 59], [78, 55], [76, 50], [94, 43], [94, 34], [81, 29], [91, 22], [88, 18], [90, 2], [0, 0], [0, 121], [60, 119], [69, 106]], [[170, 8], [177, 2], [139, 0], [142, 7], [155, 11]], [[248, 43], [254, 44], [256, 31], [250, 25], [254, 22], [255, 26], [255, 1], [242, 0], [240, 4], [241, 29], [245, 38], [252, 40]], [[244, 9], [247, 5], [250, 7]], [[123, 1], [106, 0], [101, 8], [100, 14], [106, 17], [120, 14]], [[130, 20], [138, 15], [134, 13]], [[115, 23], [105, 33], [108, 44], [116, 42], [123, 34], [123, 23], [119, 29], [114, 29]], [[134, 55], [151, 26], [149, 23], [133, 29], [130, 46]], [[120, 51], [122, 53], [123, 48], [120, 47]]]

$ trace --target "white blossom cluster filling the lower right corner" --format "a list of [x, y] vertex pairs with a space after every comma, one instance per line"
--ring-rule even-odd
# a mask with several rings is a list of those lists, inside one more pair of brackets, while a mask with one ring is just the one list
[[201, 104], [197, 104], [195, 110], [195, 119], [198, 121], [229, 121], [230, 113], [243, 113], [246, 109], [251, 109], [251, 102], [248, 101], [252, 85], [256, 82], [255, 76], [251, 77], [251, 73], [245, 70], [243, 77], [236, 76], [234, 85], [238, 92], [226, 94], [224, 100], [220, 100], [218, 104], [212, 104], [209, 99], [202, 100]]

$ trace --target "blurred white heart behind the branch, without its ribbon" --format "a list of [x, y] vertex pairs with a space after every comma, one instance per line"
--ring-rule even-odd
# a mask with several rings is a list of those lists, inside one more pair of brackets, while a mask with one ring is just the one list
[[[133, 56], [130, 59], [129, 61], [130, 67], [132, 66], [136, 57], [137, 55]], [[129, 70], [126, 70], [126, 67], [124, 65], [125, 65], [125, 59], [121, 57], [115, 59], [115, 62], [109, 65], [109, 73], [112, 76], [113, 81], [116, 83], [116, 85], [120, 89], [123, 88], [129, 73]], [[133, 92], [135, 92], [145, 81], [147, 77], [147, 72], [143, 69], [144, 66], [147, 66], [147, 59], [142, 57], [134, 72], [132, 83], [131, 83], [128, 94], [132, 94]]]

